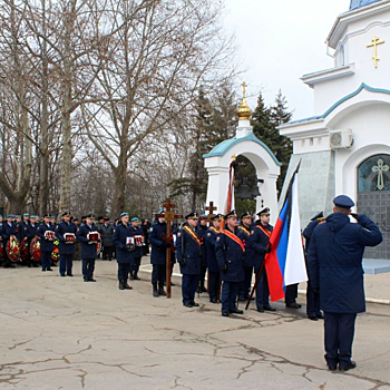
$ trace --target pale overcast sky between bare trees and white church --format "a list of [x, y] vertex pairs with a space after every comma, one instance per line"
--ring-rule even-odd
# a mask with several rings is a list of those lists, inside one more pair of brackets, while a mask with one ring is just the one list
[[[333, 67], [324, 43], [337, 17], [350, 0], [225, 0], [225, 28], [236, 37], [237, 58], [246, 72], [252, 109], [261, 90], [266, 105], [279, 89], [293, 118], [312, 116], [313, 90], [305, 74]], [[321, 113], [322, 114], [322, 113]]]

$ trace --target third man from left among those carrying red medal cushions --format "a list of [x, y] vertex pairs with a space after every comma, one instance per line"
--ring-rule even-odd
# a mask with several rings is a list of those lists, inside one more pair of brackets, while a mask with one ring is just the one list
[[77, 238], [81, 245], [82, 279], [85, 282], [96, 282], [94, 279], [95, 260], [97, 256], [96, 245], [100, 237], [98, 227], [94, 224], [94, 218], [95, 215], [92, 213], [87, 214], [86, 223], [77, 232]]

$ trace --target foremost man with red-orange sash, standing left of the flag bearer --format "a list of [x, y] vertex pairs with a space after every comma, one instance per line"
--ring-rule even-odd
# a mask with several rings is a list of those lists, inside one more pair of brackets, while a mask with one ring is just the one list
[[221, 303], [222, 315], [230, 313], [243, 314], [237, 309], [236, 301], [240, 283], [244, 280], [244, 254], [245, 247], [237, 236], [237, 214], [231, 211], [225, 215], [226, 225], [216, 237], [216, 260], [223, 280]]

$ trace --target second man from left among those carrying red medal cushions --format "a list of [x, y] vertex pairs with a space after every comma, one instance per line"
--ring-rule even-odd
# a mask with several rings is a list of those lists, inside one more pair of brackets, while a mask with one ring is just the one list
[[[70, 212], [62, 213], [62, 221], [56, 227], [56, 237], [59, 241], [59, 273], [64, 277], [74, 276], [71, 273], [71, 269], [74, 266], [74, 253], [75, 253], [75, 244], [76, 244], [76, 225], [70, 222]], [[75, 240], [67, 240], [66, 236], [74, 235]]]

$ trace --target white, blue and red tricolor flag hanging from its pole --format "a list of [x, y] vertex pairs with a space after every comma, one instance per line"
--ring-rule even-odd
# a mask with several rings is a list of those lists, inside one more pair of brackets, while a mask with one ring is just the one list
[[308, 281], [301, 236], [298, 183], [295, 170], [289, 191], [271, 234], [271, 252], [265, 255], [271, 301], [284, 298], [285, 286]]

